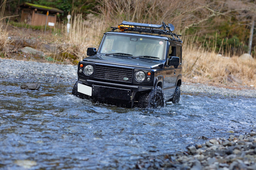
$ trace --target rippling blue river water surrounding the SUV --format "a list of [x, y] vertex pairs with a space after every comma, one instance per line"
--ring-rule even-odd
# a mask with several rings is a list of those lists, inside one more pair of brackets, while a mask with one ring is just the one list
[[144, 156], [256, 129], [256, 99], [181, 95], [164, 108], [119, 108], [71, 95], [72, 83], [39, 91], [0, 81], [0, 169], [128, 169]]

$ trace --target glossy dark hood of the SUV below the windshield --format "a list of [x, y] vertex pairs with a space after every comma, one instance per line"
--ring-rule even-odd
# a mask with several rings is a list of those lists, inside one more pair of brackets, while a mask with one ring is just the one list
[[83, 61], [94, 62], [94, 63], [105, 63], [113, 65], [123, 65], [131, 67], [140, 67], [148, 69], [163, 68], [165, 61], [162, 60], [151, 60], [145, 58], [131, 58], [127, 56], [105, 56], [105, 55], [95, 55], [84, 58]]

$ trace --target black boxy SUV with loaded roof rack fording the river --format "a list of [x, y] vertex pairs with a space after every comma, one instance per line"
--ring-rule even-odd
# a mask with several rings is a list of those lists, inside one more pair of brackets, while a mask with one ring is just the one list
[[98, 51], [88, 48], [89, 57], [79, 62], [72, 94], [124, 107], [178, 103], [182, 41], [174, 26], [123, 21], [111, 28]]

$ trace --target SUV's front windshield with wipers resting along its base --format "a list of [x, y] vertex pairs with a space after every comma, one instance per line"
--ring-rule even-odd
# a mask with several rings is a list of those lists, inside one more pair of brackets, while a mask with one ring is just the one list
[[[107, 34], [100, 53], [121, 55], [151, 56], [154, 60], [162, 60], [165, 40], [131, 35]], [[123, 53], [123, 54], [122, 54]]]

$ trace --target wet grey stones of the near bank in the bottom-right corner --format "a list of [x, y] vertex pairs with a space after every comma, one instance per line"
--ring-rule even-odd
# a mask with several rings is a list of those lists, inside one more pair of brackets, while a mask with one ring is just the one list
[[187, 152], [147, 157], [134, 165], [138, 169], [233, 170], [256, 169], [256, 133], [227, 139], [207, 139], [204, 144], [190, 145]]

